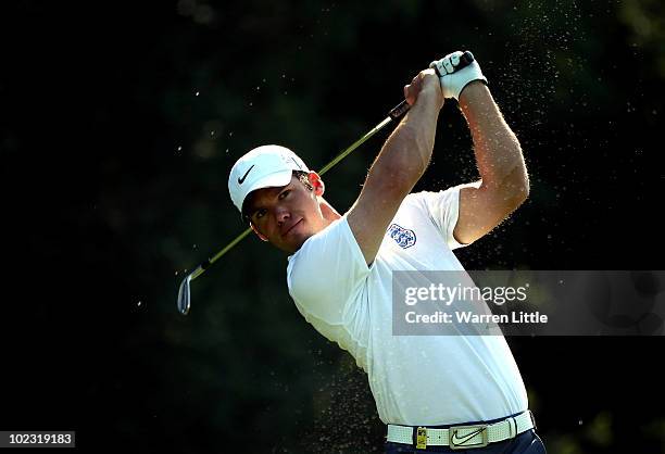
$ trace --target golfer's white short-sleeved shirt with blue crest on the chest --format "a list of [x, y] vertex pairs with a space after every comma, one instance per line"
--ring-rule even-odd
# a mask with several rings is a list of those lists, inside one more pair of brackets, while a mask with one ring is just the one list
[[289, 257], [296, 306], [367, 373], [385, 424], [452, 425], [528, 407], [503, 336], [392, 335], [393, 270], [464, 269], [452, 252], [464, 245], [453, 237], [463, 186], [409, 194], [371, 266], [346, 215]]

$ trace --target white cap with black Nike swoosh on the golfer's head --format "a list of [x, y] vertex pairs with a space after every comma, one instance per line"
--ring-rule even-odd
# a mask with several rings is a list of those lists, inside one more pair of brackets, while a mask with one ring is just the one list
[[250, 192], [287, 186], [293, 171], [310, 172], [288, 148], [262, 146], [249, 151], [236, 161], [228, 176], [228, 192], [234, 205], [242, 213], [242, 203]]

